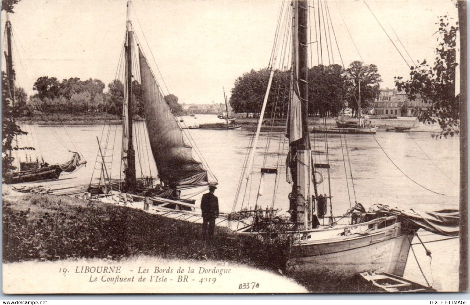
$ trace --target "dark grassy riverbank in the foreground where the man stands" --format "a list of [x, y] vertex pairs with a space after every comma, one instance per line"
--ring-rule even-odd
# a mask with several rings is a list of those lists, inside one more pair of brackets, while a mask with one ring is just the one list
[[[2, 189], [3, 262], [155, 257], [225, 261], [285, 274], [290, 241], [285, 235], [253, 236], [216, 228], [201, 240], [201, 225], [132, 208]], [[310, 292], [367, 291], [328, 274], [289, 274]], [[275, 292], [275, 291], [273, 291]]]

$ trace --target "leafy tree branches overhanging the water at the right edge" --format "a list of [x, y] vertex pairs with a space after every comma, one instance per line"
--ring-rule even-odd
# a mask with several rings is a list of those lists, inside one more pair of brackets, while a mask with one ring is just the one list
[[403, 81], [403, 77], [395, 78], [398, 90], [404, 90], [409, 99], [414, 101], [421, 97], [429, 104], [427, 109], [418, 109], [420, 122], [426, 124], [438, 123], [441, 132], [439, 137], [458, 134], [460, 104], [459, 95], [455, 95], [455, 48], [458, 22], [450, 24], [447, 16], [442, 16], [437, 33], [438, 47], [434, 66], [423, 60], [416, 67], [410, 67], [410, 78]]

